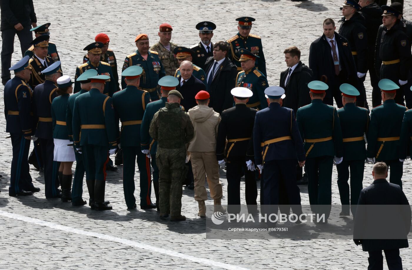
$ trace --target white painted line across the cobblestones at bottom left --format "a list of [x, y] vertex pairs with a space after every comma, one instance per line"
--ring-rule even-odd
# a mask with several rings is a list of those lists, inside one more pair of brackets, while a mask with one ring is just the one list
[[19, 214], [15, 214], [15, 213], [9, 213], [9, 212], [5, 212], [0, 210], [0, 215], [1, 216], [5, 216], [8, 217], [10, 219], [16, 219], [16, 220], [20, 220], [20, 221], [24, 221], [24, 222], [28, 222], [28, 223], [33, 223], [33, 224], [37, 224], [40, 226], [46, 226], [49, 228], [53, 228], [53, 229], [57, 229], [57, 230], [61, 230], [61, 231], [65, 231], [68, 233], [77, 233], [77, 234], [81, 234], [81, 235], [86, 235], [86, 236], [91, 236], [91, 237], [96, 237], [96, 238], [100, 238], [100, 239], [105, 239], [105, 240], [109, 240], [112, 242], [118, 242], [121, 244], [126, 244], [132, 247], [137, 247], [140, 249], [147, 249], [149, 251], [154, 251], [154, 252], [158, 252], [158, 253], [162, 253], [162, 254], [166, 254], [169, 256], [173, 256], [173, 257], [177, 257], [177, 258], [181, 258], [187, 261], [193, 261], [195, 263], [201, 263], [204, 264], [206, 266], [215, 266], [215, 267], [219, 267], [219, 268], [225, 268], [225, 269], [229, 269], [229, 270], [248, 270], [247, 268], [241, 268], [239, 266], [236, 265], [230, 265], [227, 263], [220, 263], [217, 261], [212, 261], [209, 259], [204, 259], [204, 258], [197, 258], [194, 256], [190, 256], [190, 255], [186, 255], [180, 252], [176, 252], [173, 250], [169, 250], [169, 249], [163, 249], [161, 247], [155, 247], [155, 246], [151, 246], [148, 244], [143, 244], [140, 242], [135, 242], [132, 240], [127, 240], [124, 238], [120, 238], [120, 237], [115, 237], [115, 236], [111, 236], [111, 235], [106, 235], [103, 233], [95, 233], [95, 232], [91, 232], [91, 231], [86, 231], [86, 230], [79, 230], [79, 229], [75, 229], [69, 226], [64, 226], [64, 225], [59, 225], [53, 222], [49, 222], [49, 221], [44, 221], [41, 219], [34, 219], [28, 216], [21, 216]]

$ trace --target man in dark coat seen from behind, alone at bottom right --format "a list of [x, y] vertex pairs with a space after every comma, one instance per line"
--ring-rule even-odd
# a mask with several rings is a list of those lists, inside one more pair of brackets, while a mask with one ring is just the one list
[[[389, 269], [402, 269], [399, 249], [409, 247], [407, 240], [407, 234], [411, 226], [409, 202], [405, 193], [400, 189], [400, 186], [386, 181], [386, 177], [388, 177], [388, 166], [386, 166], [385, 163], [375, 163], [375, 165], [373, 165], [372, 175], [375, 181], [373, 181], [370, 186], [362, 189], [359, 196], [358, 210], [353, 228], [353, 241], [356, 245], [362, 244], [362, 250], [369, 252], [368, 269], [383, 268], [382, 250], [385, 252], [386, 263]], [[387, 223], [382, 220], [382, 211], [372, 214], [371, 212], [373, 211], [370, 211], [370, 209], [374, 209], [375, 207], [368, 208], [367, 210], [365, 205], [370, 205], [370, 207], [373, 207], [373, 205], [382, 205], [382, 209], [388, 209], [388, 205], [393, 205], [393, 207], [389, 208], [391, 212], [389, 212], [387, 216], [384, 215], [385, 219], [390, 222], [390, 228], [382, 226]], [[395, 207], [395, 205], [397, 207]], [[367, 237], [366, 235], [369, 235], [372, 227], [376, 232], [391, 230], [389, 233], [398, 235], [398, 238], [372, 239], [372, 235], [370, 235], [371, 237]], [[379, 230], [380, 228], [382, 228], [382, 230]], [[368, 239], [361, 239], [362, 236]]]

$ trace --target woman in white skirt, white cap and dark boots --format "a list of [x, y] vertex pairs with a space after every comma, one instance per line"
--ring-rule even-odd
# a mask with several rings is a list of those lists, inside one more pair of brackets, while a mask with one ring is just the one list
[[54, 161], [60, 162], [59, 174], [61, 179], [61, 200], [71, 201], [72, 187], [72, 165], [75, 161], [75, 152], [70, 146], [70, 138], [66, 127], [66, 109], [69, 95], [73, 93], [73, 81], [65, 75], [57, 79], [57, 90], [59, 94], [52, 102]]

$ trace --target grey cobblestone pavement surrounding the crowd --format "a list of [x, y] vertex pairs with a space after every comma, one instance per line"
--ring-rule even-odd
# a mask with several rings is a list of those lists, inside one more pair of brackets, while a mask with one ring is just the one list
[[[82, 63], [82, 48], [94, 41], [97, 33], [110, 37], [110, 48], [118, 59], [119, 74], [124, 58], [136, 50], [139, 33], [157, 42], [160, 23], [172, 24], [172, 41], [183, 46], [199, 42], [194, 26], [202, 20], [217, 25], [213, 41], [226, 40], [237, 33], [235, 18], [253, 16], [253, 34], [262, 37], [270, 85], [279, 81], [286, 68], [283, 50], [296, 45], [302, 61], [308, 62], [309, 45], [322, 34], [322, 21], [340, 19], [340, 0], [249, 0], [228, 2], [163, 0], [149, 1], [35, 1], [38, 23], [50, 22], [51, 41], [56, 43], [65, 74], [74, 77]], [[405, 1], [405, 4], [408, 1]], [[405, 17], [412, 18], [410, 5]], [[20, 59], [15, 42], [13, 63]], [[320, 56], [321, 57], [321, 56]], [[367, 77], [366, 81], [369, 80]], [[371, 106], [371, 87], [368, 102]], [[0, 91], [2, 92], [1, 86]], [[3, 100], [0, 110], [3, 110]], [[0, 268], [1, 269], [365, 269], [367, 253], [351, 240], [207, 240], [204, 222], [197, 217], [197, 203], [191, 190], [183, 191], [182, 212], [187, 221], [159, 221], [156, 211], [127, 211], [122, 190], [122, 167], [108, 172], [106, 198], [113, 210], [91, 211], [71, 207], [60, 200], [44, 197], [43, 174], [31, 168], [35, 196], [13, 198], [7, 194], [11, 144], [0, 118]], [[137, 169], [136, 169], [137, 170]], [[372, 182], [371, 165], [366, 165], [363, 186]], [[403, 190], [412, 198], [411, 162], [404, 164]], [[333, 170], [332, 203], [339, 204]], [[227, 194], [225, 172], [221, 181]], [[244, 182], [241, 183], [244, 194]], [[307, 186], [301, 187], [302, 204], [308, 204]], [[84, 185], [84, 190], [87, 191]], [[87, 192], [86, 192], [87, 193]], [[84, 198], [88, 195], [84, 193]], [[136, 175], [136, 193], [139, 193]], [[152, 192], [152, 198], [154, 198]], [[226, 202], [226, 197], [222, 203]], [[244, 196], [242, 196], [244, 203]], [[207, 204], [213, 204], [208, 200]], [[412, 242], [410, 242], [412, 244]], [[404, 268], [412, 269], [410, 249], [401, 249]], [[386, 265], [385, 265], [386, 267]], [[387, 269], [387, 268], [386, 268]]]

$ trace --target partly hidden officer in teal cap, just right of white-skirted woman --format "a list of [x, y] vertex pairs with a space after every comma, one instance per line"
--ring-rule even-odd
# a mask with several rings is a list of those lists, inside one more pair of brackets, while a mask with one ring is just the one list
[[[73, 141], [72, 121], [73, 121], [73, 110], [75, 106], [75, 99], [79, 95], [83, 93], [87, 93], [90, 90], [90, 78], [94, 76], [97, 76], [96, 70], [86, 70], [85, 72], [83, 72], [77, 78], [77, 81], [80, 83], [81, 90], [73, 95], [70, 95], [67, 101], [66, 126], [67, 126], [67, 132], [68, 132], [69, 137], [71, 138], [71, 141]], [[77, 151], [75, 151], [75, 158], [76, 158], [76, 167], [75, 167], [75, 175], [73, 177], [72, 205], [81, 206], [81, 205], [86, 204], [86, 201], [83, 200], [82, 198], [83, 177], [84, 177], [85, 170], [84, 170], [82, 154], [79, 154]]]

